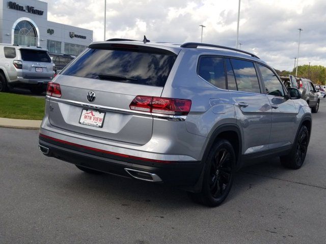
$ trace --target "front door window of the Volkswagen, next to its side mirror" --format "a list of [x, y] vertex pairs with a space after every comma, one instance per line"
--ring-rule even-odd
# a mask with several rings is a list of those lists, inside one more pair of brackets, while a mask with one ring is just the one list
[[265, 66], [258, 65], [263, 82], [265, 84], [266, 94], [273, 96], [284, 96], [283, 86], [276, 75]]

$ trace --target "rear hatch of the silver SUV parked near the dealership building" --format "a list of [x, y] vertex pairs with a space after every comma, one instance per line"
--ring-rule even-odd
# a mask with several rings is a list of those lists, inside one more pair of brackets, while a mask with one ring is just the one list
[[46, 50], [20, 48], [22, 77], [25, 79], [52, 79], [53, 63]]

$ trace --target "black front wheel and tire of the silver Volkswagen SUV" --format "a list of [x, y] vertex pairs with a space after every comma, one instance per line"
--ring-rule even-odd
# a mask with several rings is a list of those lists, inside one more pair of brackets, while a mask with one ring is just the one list
[[290, 154], [280, 157], [283, 166], [289, 169], [300, 169], [305, 162], [308, 144], [309, 131], [306, 126], [301, 126]]

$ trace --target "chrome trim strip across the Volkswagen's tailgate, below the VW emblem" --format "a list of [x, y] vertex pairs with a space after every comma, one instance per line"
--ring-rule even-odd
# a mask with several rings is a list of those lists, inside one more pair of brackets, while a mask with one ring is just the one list
[[186, 115], [168, 115], [168, 114], [159, 114], [159, 113], [149, 113], [144, 111], [135, 111], [135, 110], [129, 110], [129, 109], [122, 109], [122, 108], [113, 108], [113, 107], [107, 107], [107, 106], [101, 106], [97, 104], [90, 104], [90, 103], [82, 103], [82, 102], [76, 102], [68, 99], [62, 99], [62, 98], [56, 98], [46, 95], [46, 98], [49, 98], [50, 101], [58, 101], [78, 106], [83, 106], [85, 108], [94, 108], [94, 109], [100, 109], [100, 110], [111, 110], [111, 111], [119, 111], [119, 112], [125, 112], [125, 113], [131, 113], [131, 114], [145, 114], [145, 115], [151, 115], [153, 118], [159, 118], [159, 119], [166, 119], [169, 121], [185, 121]]

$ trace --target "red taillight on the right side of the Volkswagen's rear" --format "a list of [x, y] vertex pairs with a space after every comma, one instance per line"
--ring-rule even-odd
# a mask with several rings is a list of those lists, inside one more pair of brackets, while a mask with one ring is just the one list
[[137, 96], [129, 105], [131, 110], [169, 115], [187, 115], [192, 101], [188, 99]]

